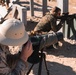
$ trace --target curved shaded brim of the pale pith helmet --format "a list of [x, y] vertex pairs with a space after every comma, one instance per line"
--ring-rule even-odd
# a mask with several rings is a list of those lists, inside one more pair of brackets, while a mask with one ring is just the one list
[[20, 39], [10, 39], [6, 38], [0, 33], [0, 43], [8, 46], [20, 46], [26, 43], [29, 39], [27, 32], [25, 31], [25, 35]]

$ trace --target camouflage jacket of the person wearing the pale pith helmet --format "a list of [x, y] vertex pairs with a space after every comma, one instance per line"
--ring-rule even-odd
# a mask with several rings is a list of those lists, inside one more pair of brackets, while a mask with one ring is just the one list
[[[9, 51], [7, 52], [6, 50], [3, 50], [0, 47], [0, 75], [25, 75], [26, 71], [25, 62], [22, 61], [21, 59], [18, 59], [16, 62], [15, 61], [13, 62], [13, 58], [11, 58], [13, 56], [14, 55], [12, 56], [10, 55]], [[15, 59], [16, 56], [18, 55], [15, 55]]]

